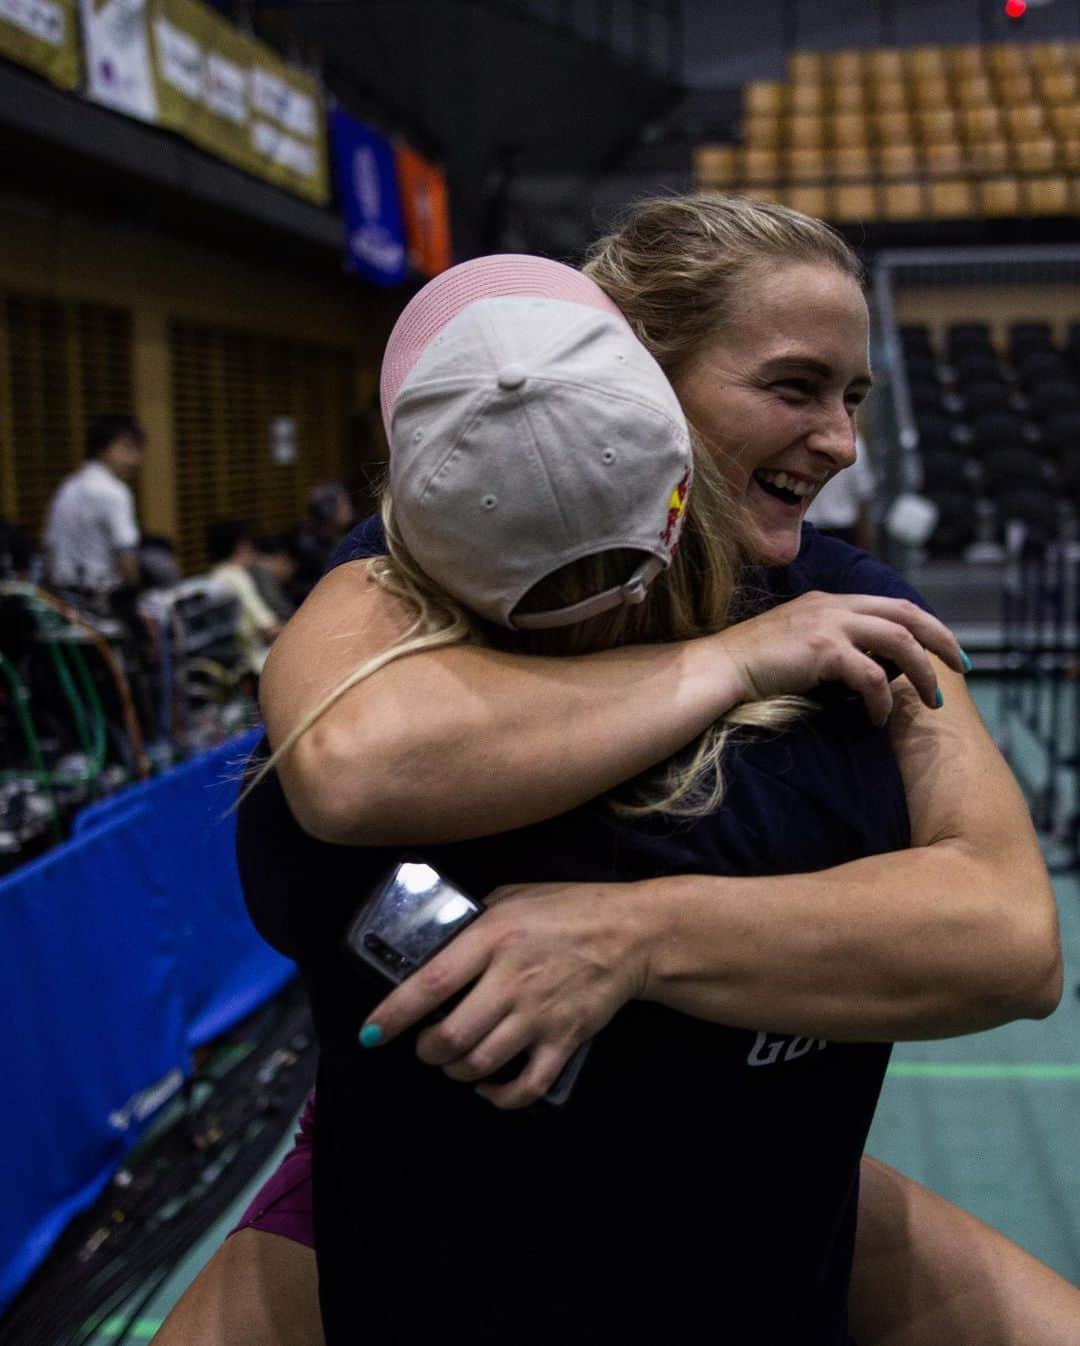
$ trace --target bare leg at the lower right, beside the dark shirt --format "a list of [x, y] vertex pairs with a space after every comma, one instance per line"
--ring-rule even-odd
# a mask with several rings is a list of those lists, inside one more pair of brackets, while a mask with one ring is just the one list
[[1076, 1346], [1080, 1289], [869, 1156], [851, 1277], [859, 1346]]

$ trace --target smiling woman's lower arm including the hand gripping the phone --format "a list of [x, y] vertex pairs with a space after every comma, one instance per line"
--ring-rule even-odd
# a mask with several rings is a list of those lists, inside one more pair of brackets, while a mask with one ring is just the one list
[[835, 1040], [975, 1032], [1042, 1018], [1061, 995], [1053, 892], [1027, 810], [961, 677], [945, 705], [901, 688], [893, 738], [910, 849], [819, 874], [681, 875], [501, 888], [475, 925], [378, 1005], [386, 1039], [477, 983], [419, 1040], [501, 1108], [541, 1097], [628, 999], [734, 1027]]

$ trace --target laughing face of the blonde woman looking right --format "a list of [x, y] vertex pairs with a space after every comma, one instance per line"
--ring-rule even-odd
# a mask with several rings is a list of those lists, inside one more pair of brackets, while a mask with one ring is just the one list
[[795, 560], [811, 499], [855, 462], [869, 326], [862, 291], [835, 267], [757, 265], [731, 322], [673, 380], [741, 506], [755, 561]]

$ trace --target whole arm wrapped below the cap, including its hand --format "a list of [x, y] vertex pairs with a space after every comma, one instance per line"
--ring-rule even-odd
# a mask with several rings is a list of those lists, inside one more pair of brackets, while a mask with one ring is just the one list
[[[411, 621], [364, 561], [325, 576], [263, 672], [271, 744]], [[873, 595], [805, 594], [718, 635], [579, 658], [428, 649], [345, 693], [281, 758], [279, 774], [300, 825], [323, 841], [505, 832], [637, 775], [743, 700], [840, 678], [882, 720], [891, 693], [867, 649], [905, 669], [928, 704], [937, 681], [926, 649], [960, 666], [936, 618]]]

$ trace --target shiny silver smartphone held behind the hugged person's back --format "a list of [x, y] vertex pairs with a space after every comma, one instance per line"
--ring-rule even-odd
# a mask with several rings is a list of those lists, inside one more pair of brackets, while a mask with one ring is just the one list
[[[356, 913], [345, 944], [368, 966], [400, 985], [483, 911], [479, 899], [462, 892], [430, 864], [403, 860]], [[588, 1046], [583, 1042], [567, 1061], [544, 1102], [562, 1106], [570, 1098]], [[513, 1079], [524, 1065], [524, 1057], [517, 1057], [492, 1079]]]

